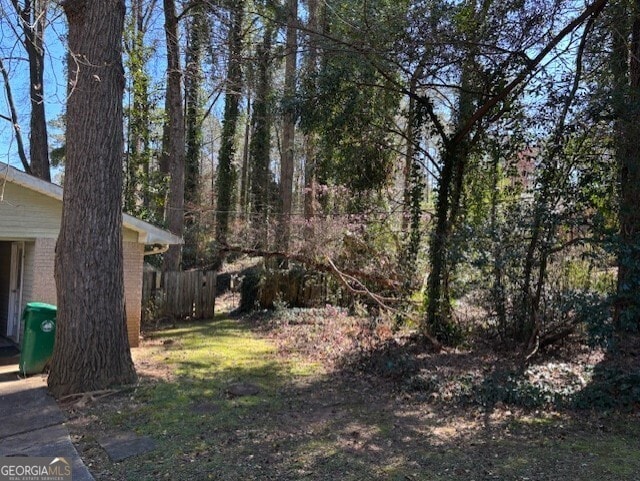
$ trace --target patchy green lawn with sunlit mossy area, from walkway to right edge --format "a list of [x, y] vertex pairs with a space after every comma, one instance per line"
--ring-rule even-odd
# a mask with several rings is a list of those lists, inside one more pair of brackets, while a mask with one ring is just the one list
[[[67, 406], [81, 456], [97, 480], [640, 480], [637, 415], [417, 400], [321, 362], [309, 329], [306, 350], [225, 317], [153, 332], [139, 386]], [[111, 462], [118, 431], [156, 449]]]

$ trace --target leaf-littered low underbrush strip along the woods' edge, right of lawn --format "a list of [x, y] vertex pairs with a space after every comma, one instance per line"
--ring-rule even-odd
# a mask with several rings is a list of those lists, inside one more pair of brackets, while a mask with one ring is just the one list
[[389, 384], [414, 401], [563, 410], [640, 406], [640, 372], [605, 367], [603, 349], [575, 339], [525, 364], [522, 356], [483, 342], [436, 352], [414, 331], [394, 333], [391, 321], [333, 306], [263, 311], [252, 324], [283, 356], [312, 358], [341, 376]]

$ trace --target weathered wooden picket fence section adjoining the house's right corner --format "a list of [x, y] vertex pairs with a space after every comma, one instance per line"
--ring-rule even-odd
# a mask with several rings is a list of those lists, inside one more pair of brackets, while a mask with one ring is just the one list
[[212, 271], [145, 272], [142, 317], [207, 319], [213, 317], [216, 273]]

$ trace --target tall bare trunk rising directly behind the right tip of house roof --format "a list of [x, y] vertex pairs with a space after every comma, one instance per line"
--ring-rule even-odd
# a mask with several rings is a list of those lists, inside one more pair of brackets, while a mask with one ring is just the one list
[[[178, 17], [174, 0], [164, 0], [165, 36], [167, 40], [167, 135], [163, 155], [167, 156], [169, 195], [165, 219], [171, 233], [182, 237], [184, 230], [184, 114], [182, 110], [182, 71]], [[166, 142], [166, 143], [165, 143]], [[164, 270], [180, 269], [182, 247], [170, 246], [164, 254]]]

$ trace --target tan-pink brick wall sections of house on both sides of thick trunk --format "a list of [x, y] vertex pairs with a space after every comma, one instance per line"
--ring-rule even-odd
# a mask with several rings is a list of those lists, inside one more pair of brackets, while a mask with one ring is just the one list
[[[54, 279], [55, 239], [37, 239], [33, 259], [33, 289], [30, 301], [56, 304]], [[142, 305], [142, 263], [144, 245], [135, 242], [123, 244], [124, 292], [127, 309], [129, 344], [140, 343], [140, 315]], [[26, 267], [26, 266], [25, 266]]]

